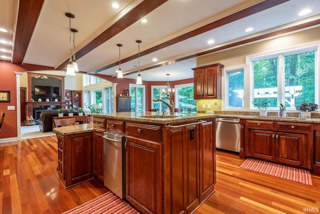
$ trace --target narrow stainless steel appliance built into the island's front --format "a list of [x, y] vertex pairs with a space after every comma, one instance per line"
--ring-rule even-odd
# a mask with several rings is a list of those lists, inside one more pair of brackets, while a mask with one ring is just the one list
[[125, 136], [103, 133], [104, 186], [121, 199], [125, 198]]

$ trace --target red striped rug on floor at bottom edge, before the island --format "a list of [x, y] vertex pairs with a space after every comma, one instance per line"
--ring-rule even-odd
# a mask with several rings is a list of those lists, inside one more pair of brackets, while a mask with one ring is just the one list
[[139, 214], [112, 192], [107, 192], [63, 214]]

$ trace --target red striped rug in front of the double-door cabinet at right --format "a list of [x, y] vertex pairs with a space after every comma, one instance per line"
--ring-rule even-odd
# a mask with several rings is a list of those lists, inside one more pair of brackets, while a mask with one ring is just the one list
[[272, 164], [255, 159], [246, 159], [241, 164], [240, 168], [312, 186], [311, 174], [307, 170]]

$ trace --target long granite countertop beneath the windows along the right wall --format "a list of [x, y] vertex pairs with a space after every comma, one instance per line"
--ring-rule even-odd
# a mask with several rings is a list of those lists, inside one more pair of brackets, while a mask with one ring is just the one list
[[300, 123], [320, 123], [320, 118], [251, 116], [251, 115], [224, 115], [224, 114], [216, 115], [216, 117], [251, 119], [251, 120], [273, 120], [273, 121], [300, 122]]

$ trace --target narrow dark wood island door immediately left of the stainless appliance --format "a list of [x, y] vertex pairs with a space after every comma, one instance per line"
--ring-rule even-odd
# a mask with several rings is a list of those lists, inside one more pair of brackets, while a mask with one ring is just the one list
[[93, 175], [103, 182], [103, 130], [95, 129], [92, 141]]

